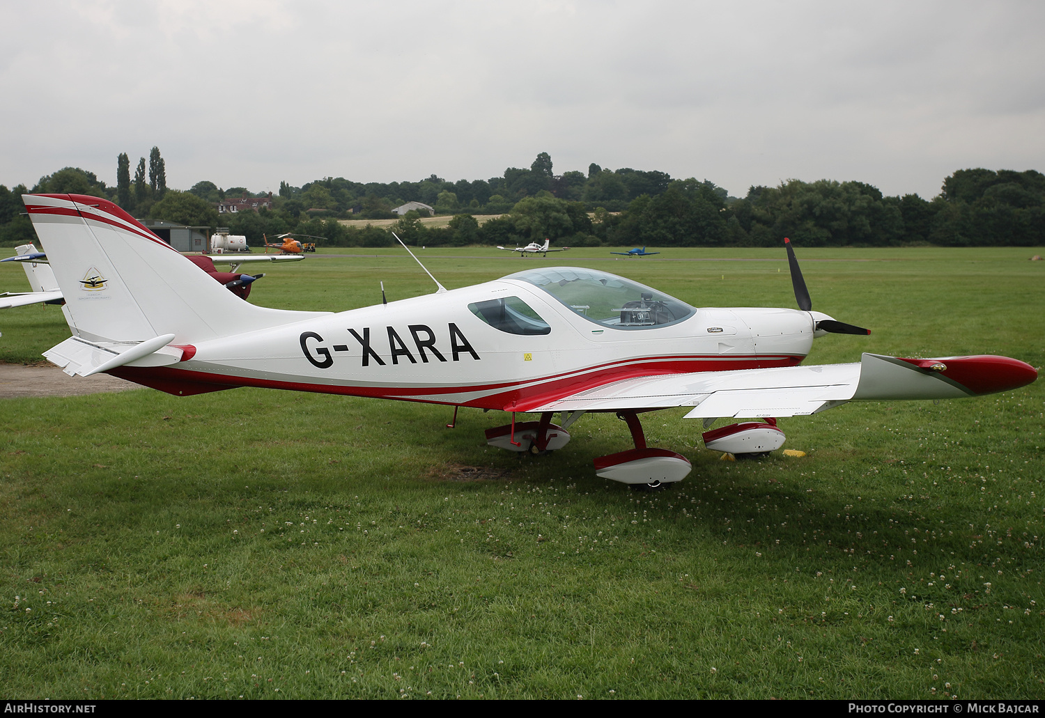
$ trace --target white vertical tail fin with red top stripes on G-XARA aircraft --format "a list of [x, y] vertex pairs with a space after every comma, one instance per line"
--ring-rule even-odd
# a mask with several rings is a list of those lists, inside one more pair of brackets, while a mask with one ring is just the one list
[[190, 344], [317, 316], [248, 304], [108, 200], [23, 194], [73, 334]]

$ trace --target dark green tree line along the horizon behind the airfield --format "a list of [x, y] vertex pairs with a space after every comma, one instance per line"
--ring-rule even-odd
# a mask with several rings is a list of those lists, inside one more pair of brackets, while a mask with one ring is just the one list
[[[0, 185], [0, 244], [31, 240], [20, 196], [26, 190]], [[425, 246], [513, 245], [545, 237], [573, 247], [776, 247], [785, 236], [807, 247], [899, 247], [938, 245], [1045, 245], [1045, 176], [1036, 170], [959, 169], [944, 179], [931, 200], [918, 194], [885, 196], [862, 182], [788, 180], [752, 186], [729, 196], [709, 180], [673, 179], [667, 172], [629, 167], [556, 175], [540, 153], [530, 167], [508, 167], [489, 180], [448, 182], [435, 175], [419, 182], [359, 183], [325, 178], [294, 187], [280, 183], [272, 209], [218, 216], [226, 198], [263, 196], [247, 187], [223, 189], [201, 181], [187, 191], [168, 189], [165, 163], [154, 147], [134, 178], [125, 153], [117, 157], [117, 184], [66, 167], [40, 179], [34, 192], [72, 192], [111, 199], [140, 218], [193, 226], [229, 227], [253, 245], [262, 236], [298, 232], [323, 236], [333, 247], [382, 247], [386, 229], [347, 227], [342, 218], [395, 217], [410, 201], [451, 215], [432, 228], [408, 212], [393, 230], [404, 241]], [[501, 215], [496, 218], [477, 215]]]

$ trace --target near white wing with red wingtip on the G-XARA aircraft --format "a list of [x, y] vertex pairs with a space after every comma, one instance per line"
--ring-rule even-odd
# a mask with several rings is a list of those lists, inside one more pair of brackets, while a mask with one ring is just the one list
[[1025, 386], [1034, 367], [1007, 356], [905, 360], [863, 354], [859, 364], [738, 369], [645, 376], [547, 397], [526, 412], [693, 407], [688, 419], [803, 416], [851, 400], [944, 399]]

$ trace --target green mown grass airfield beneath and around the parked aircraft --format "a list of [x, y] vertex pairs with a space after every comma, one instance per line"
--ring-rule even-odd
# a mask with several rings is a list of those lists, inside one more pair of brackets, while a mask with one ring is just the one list
[[[809, 363], [1045, 364], [1040, 249], [796, 251], [814, 308], [873, 330]], [[325, 252], [372, 256], [273, 268], [252, 301], [432, 288], [396, 251]], [[421, 257], [449, 288], [570, 263], [697, 306], [794, 306], [783, 250], [495, 252]], [[26, 284], [9, 264], [0, 282]], [[57, 307], [0, 330], [5, 362], [68, 335]], [[800, 459], [720, 461], [683, 411], [647, 415], [651, 445], [694, 465], [658, 493], [595, 476], [630, 447], [607, 415], [519, 457], [483, 441], [503, 415], [447, 430], [447, 408], [405, 402], [143, 389], [0, 408], [5, 697], [1045, 696], [1043, 381], [782, 420]]]

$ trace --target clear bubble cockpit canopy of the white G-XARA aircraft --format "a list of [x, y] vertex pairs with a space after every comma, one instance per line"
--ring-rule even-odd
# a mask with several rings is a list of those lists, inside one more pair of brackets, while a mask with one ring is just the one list
[[510, 274], [540, 287], [584, 319], [614, 329], [649, 329], [681, 322], [696, 309], [663, 292], [616, 274], [554, 267]]

